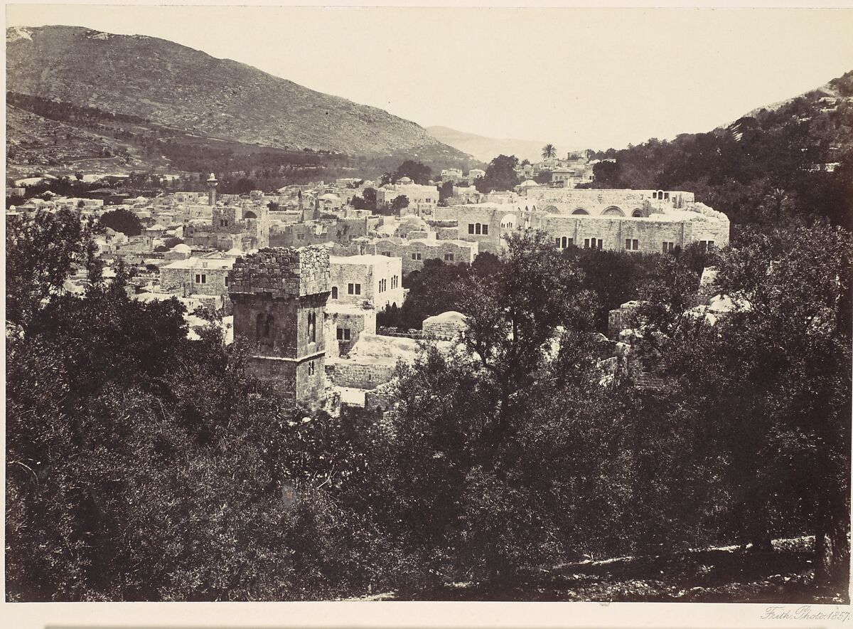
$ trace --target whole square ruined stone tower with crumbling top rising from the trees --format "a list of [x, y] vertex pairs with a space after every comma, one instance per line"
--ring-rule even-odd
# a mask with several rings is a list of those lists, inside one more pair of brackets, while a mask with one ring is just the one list
[[273, 381], [287, 399], [320, 405], [326, 387], [328, 250], [261, 249], [238, 258], [228, 279], [235, 339], [252, 344], [252, 373]]

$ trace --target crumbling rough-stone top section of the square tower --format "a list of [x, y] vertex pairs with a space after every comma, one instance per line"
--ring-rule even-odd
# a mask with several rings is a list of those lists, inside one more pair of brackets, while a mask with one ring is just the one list
[[265, 248], [235, 261], [229, 294], [294, 298], [328, 293], [331, 271], [325, 247]]

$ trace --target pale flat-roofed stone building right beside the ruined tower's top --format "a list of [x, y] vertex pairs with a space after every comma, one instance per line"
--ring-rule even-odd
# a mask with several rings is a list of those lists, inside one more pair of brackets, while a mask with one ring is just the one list
[[403, 266], [400, 259], [384, 255], [334, 256], [329, 259], [329, 301], [360, 305], [369, 301], [376, 310], [403, 306]]

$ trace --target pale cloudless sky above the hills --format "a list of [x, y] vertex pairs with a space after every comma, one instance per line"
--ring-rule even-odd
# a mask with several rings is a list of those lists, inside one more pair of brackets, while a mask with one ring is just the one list
[[621, 148], [853, 69], [850, 9], [13, 5], [8, 26], [171, 39], [427, 125]]

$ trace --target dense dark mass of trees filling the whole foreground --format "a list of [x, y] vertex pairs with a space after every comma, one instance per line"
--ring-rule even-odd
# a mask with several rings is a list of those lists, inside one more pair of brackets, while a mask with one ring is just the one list
[[[381, 419], [283, 404], [220, 329], [190, 341], [177, 301], [129, 300], [120, 265], [103, 281], [77, 214], [11, 233], [9, 600], [425, 597], [584, 557], [738, 543], [760, 561], [809, 533], [813, 583], [846, 592], [844, 230], [647, 257], [527, 232], [426, 264], [400, 324], [456, 309], [467, 334], [399, 365]], [[737, 306], [716, 320], [692, 314], [709, 262]], [[74, 265], [82, 296], [61, 291]], [[600, 362], [602, 314], [633, 297], [652, 393]]]

